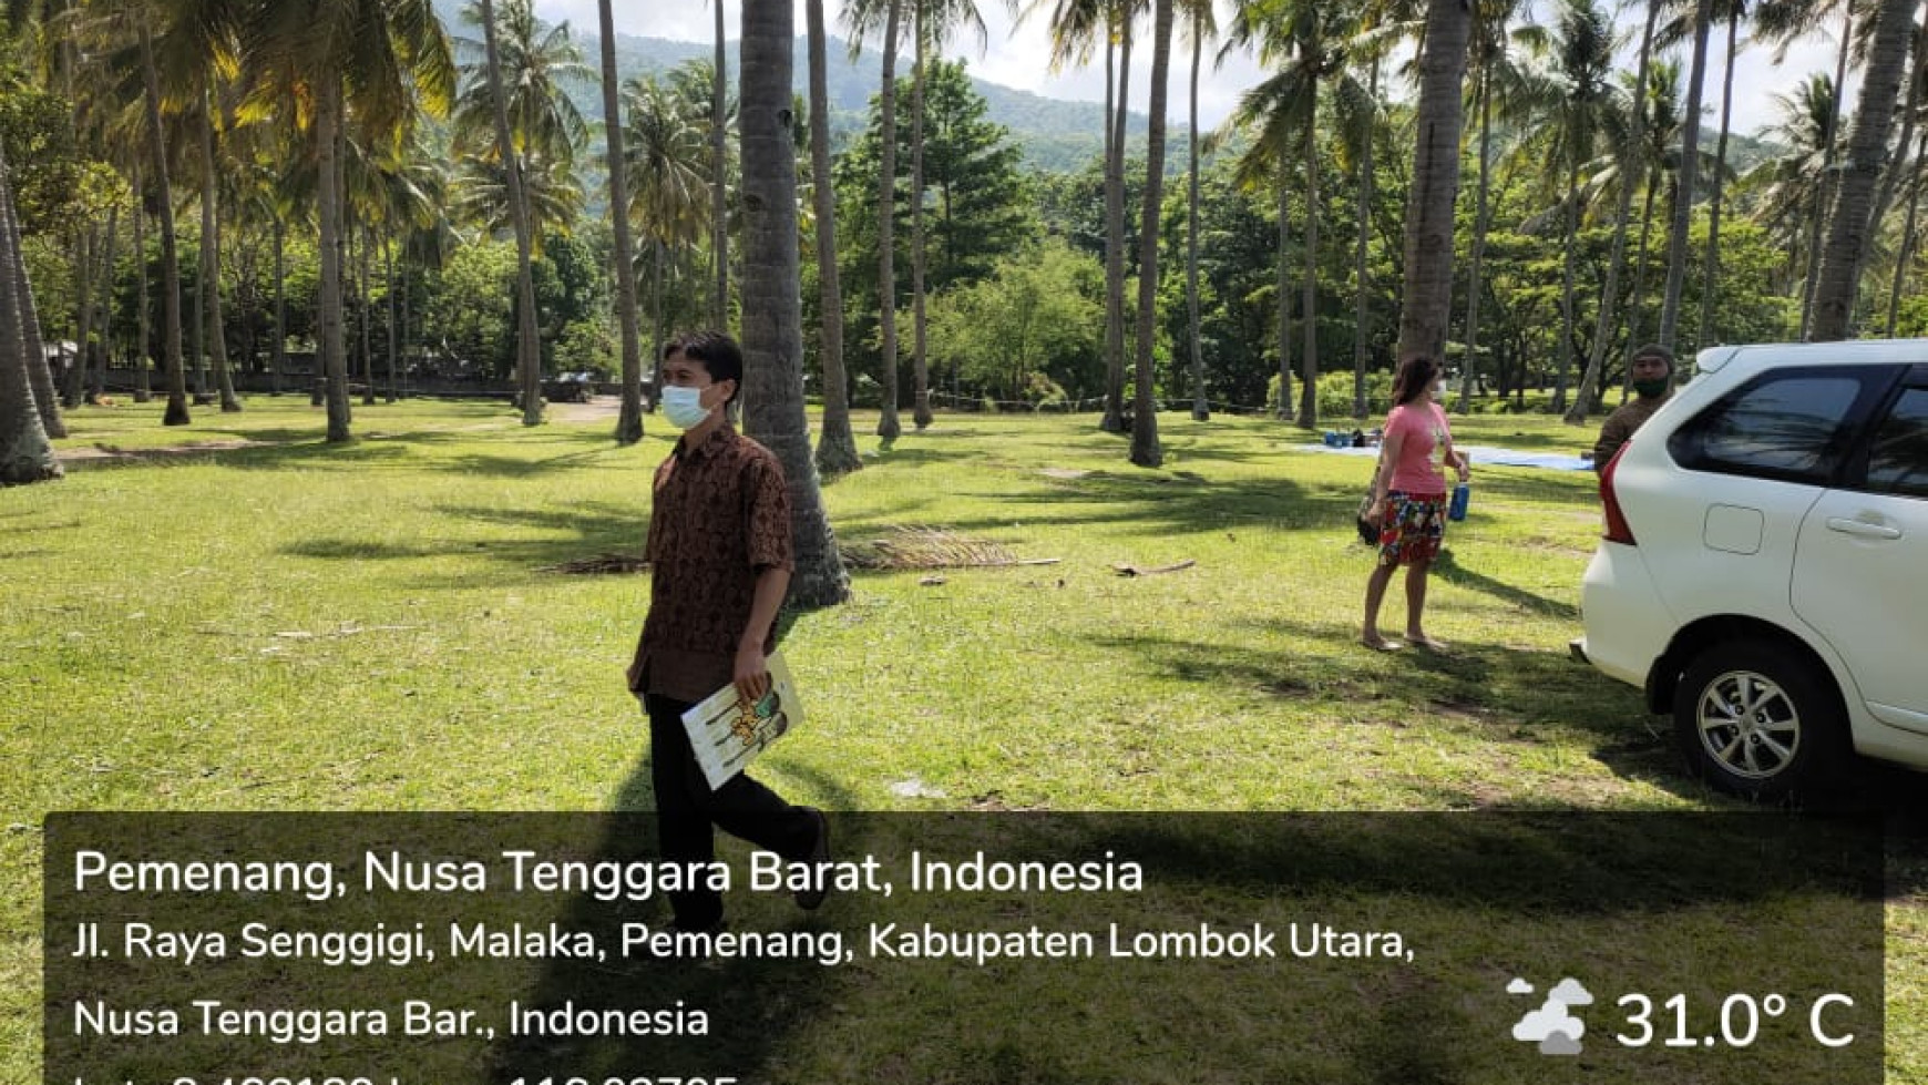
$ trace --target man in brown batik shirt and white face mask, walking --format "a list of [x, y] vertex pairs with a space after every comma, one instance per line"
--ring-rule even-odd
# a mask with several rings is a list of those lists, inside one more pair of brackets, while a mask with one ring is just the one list
[[[829, 823], [790, 806], [748, 773], [711, 790], [690, 750], [683, 713], [727, 684], [756, 701], [769, 692], [767, 657], [777, 609], [790, 586], [790, 497], [783, 466], [738, 436], [729, 405], [742, 387], [742, 351], [717, 331], [696, 331], [663, 351], [663, 414], [683, 430], [656, 470], [650, 515], [650, 617], [629, 667], [629, 688], [650, 715], [663, 860], [715, 858], [713, 827], [785, 860], [825, 860]], [[821, 890], [798, 890], [816, 908]], [[713, 890], [669, 894], [681, 931], [723, 921]]]

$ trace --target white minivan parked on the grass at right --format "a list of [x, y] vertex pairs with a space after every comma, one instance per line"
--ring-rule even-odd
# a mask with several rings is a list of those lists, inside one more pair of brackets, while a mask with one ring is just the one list
[[1716, 347], [1600, 472], [1575, 657], [1722, 790], [1928, 769], [1928, 339]]

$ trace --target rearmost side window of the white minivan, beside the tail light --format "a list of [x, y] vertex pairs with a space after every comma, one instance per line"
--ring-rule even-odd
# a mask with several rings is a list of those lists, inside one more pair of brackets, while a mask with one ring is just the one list
[[1862, 391], [1853, 372], [1770, 374], [1675, 430], [1668, 451], [1689, 470], [1826, 484]]

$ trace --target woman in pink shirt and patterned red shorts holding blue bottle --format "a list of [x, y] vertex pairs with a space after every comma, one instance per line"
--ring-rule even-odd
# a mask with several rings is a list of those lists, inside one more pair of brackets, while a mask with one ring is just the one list
[[1365, 632], [1359, 642], [1377, 651], [1396, 644], [1379, 636], [1379, 603], [1386, 597], [1392, 570], [1406, 567], [1406, 640], [1429, 651], [1446, 646], [1433, 640], [1421, 622], [1427, 609], [1427, 572], [1446, 538], [1446, 466], [1465, 482], [1465, 453], [1454, 451], [1452, 430], [1438, 399], [1440, 366], [1413, 357], [1400, 362], [1392, 380], [1392, 414], [1386, 416], [1386, 443], [1373, 476], [1373, 505], [1365, 518], [1379, 524], [1379, 565], [1365, 582]]

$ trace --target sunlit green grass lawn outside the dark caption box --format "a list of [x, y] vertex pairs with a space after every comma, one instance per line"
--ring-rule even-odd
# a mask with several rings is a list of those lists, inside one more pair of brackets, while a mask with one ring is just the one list
[[[307, 399], [164, 430], [69, 412], [96, 459], [0, 491], [0, 1081], [39, 1075], [39, 823], [54, 809], [648, 809], [623, 688], [667, 426], [524, 430], [503, 405]], [[1633, 688], [1567, 659], [1598, 536], [1589, 472], [1481, 468], [1429, 630], [1355, 644], [1369, 459], [1257, 418], [1161, 416], [1126, 463], [1093, 416], [943, 416], [825, 488], [841, 542], [945, 526], [1057, 565], [858, 572], [787, 655], [808, 732], [760, 775], [839, 809], [1722, 809]], [[1461, 443], [1591, 447], [1556, 420]], [[1190, 569], [1126, 578], [1192, 561]], [[1398, 580], [1384, 626], [1402, 628]], [[1897, 858], [1889, 1079], [1928, 1081], [1924, 865]]]

